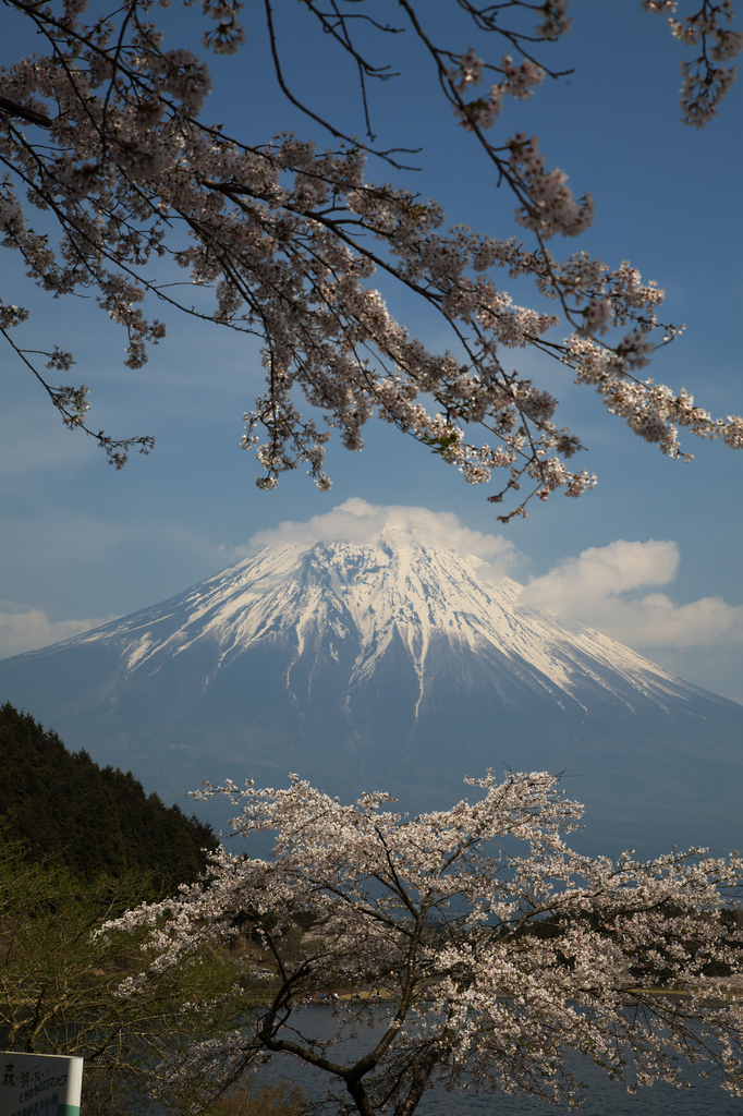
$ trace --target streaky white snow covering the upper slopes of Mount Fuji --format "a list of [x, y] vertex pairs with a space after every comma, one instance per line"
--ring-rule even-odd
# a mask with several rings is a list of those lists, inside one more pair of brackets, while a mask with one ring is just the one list
[[670, 683], [677, 694], [674, 675], [597, 632], [521, 607], [520, 591], [482, 558], [401, 545], [394, 536], [373, 546], [290, 543], [266, 547], [178, 597], [78, 638], [123, 637], [127, 672], [208, 643], [215, 651], [210, 679], [249, 646], [282, 641], [291, 648], [292, 693], [306, 684], [295, 667], [307, 652], [321, 647], [342, 660], [350, 693], [399, 641], [418, 677], [416, 713], [431, 647], [442, 639], [460, 653], [495, 650], [557, 701], [560, 692], [578, 698], [587, 675], [617, 693], [629, 683], [663, 701]]

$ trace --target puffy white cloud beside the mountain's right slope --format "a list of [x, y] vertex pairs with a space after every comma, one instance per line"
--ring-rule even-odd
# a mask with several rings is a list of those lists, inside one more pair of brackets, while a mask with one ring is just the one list
[[565, 558], [549, 574], [532, 578], [520, 602], [569, 616], [637, 650], [743, 643], [743, 607], [722, 597], [677, 605], [665, 593], [636, 595], [646, 587], [668, 585], [678, 561], [675, 542], [617, 539]]

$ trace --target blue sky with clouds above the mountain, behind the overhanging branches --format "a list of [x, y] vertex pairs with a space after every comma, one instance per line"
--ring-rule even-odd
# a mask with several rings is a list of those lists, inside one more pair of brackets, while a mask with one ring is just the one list
[[[425, 4], [438, 37], [447, 36], [455, 49], [472, 44], [484, 57], [500, 58], [498, 44], [448, 26], [453, 7]], [[358, 133], [353, 75], [321, 38], [308, 38], [299, 8], [279, 6], [287, 68], [298, 92]], [[394, 21], [396, 6], [387, 10]], [[679, 12], [686, 13], [683, 3]], [[685, 323], [686, 334], [658, 355], [649, 374], [685, 386], [714, 414], [741, 414], [741, 86], [706, 129], [685, 128], [678, 64], [689, 51], [672, 39], [665, 20], [628, 0], [573, 0], [570, 13], [572, 30], [546, 45], [542, 56], [575, 73], [542, 86], [525, 104], [506, 105], [493, 138], [535, 133], [548, 166], [570, 175], [576, 195], [594, 194], [592, 229], [579, 241], [554, 242], [558, 254], [585, 248], [607, 263], [629, 259], [666, 290], [664, 318]], [[253, 142], [295, 129], [325, 143], [277, 90], [262, 26], [250, 8], [244, 15], [243, 50], [210, 61], [215, 92], [205, 117]], [[172, 45], [197, 41], [199, 11], [178, 9], [167, 18]], [[35, 46], [9, 16], [2, 60]], [[422, 170], [397, 181], [440, 200], [451, 223], [500, 237], [517, 232], [511, 196], [496, 190], [409, 38], [380, 41], [378, 57], [404, 70], [374, 90], [379, 143], [423, 147]], [[392, 176], [374, 162], [369, 175]], [[467, 485], [426, 448], [379, 424], [368, 427], [360, 454], [331, 443], [329, 493], [301, 471], [261, 492], [257, 463], [239, 448], [242, 414], [260, 391], [255, 347], [216, 327], [166, 317], [168, 336], [148, 365], [132, 372], [123, 366], [122, 330], [93, 299], [49, 301], [8, 250], [0, 260], [2, 297], [31, 311], [17, 343], [57, 343], [75, 353], [73, 375], [90, 388], [96, 429], [156, 437], [151, 456], [135, 456], [115, 472], [94, 444], [61, 427], [15, 355], [0, 349], [0, 656], [161, 600], [240, 557], [257, 532], [360, 499], [454, 513], [463, 528], [503, 533], [509, 574], [531, 583], [525, 600], [559, 608], [743, 701], [743, 453], [684, 437], [695, 461], [668, 461], [607, 416], [567, 371], [517, 352], [509, 354], [514, 366], [528, 368], [561, 401], [560, 423], [588, 446], [581, 464], [598, 473], [599, 484], [580, 500], [553, 497], [525, 521], [501, 528], [486, 488]], [[517, 301], [533, 301], [520, 283], [498, 281]], [[398, 319], [427, 345], [447, 344], [440, 325], [409, 298], [388, 285], [383, 289]]]

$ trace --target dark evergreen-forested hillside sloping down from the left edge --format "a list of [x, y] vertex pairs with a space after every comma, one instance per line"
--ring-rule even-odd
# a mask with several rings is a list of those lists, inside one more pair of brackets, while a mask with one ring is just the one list
[[131, 771], [100, 768], [86, 751], [69, 752], [9, 702], [0, 708], [0, 821], [32, 859], [51, 854], [86, 879], [152, 875], [173, 891], [205, 867], [216, 848], [211, 827], [157, 795], [145, 795]]

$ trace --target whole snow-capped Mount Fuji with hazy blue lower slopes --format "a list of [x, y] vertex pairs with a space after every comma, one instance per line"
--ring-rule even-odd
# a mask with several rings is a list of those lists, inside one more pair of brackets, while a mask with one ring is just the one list
[[435, 809], [489, 767], [565, 770], [588, 852], [743, 845], [743, 706], [520, 589], [443, 547], [267, 547], [0, 662], [0, 699], [186, 807], [203, 779], [296, 771]]

